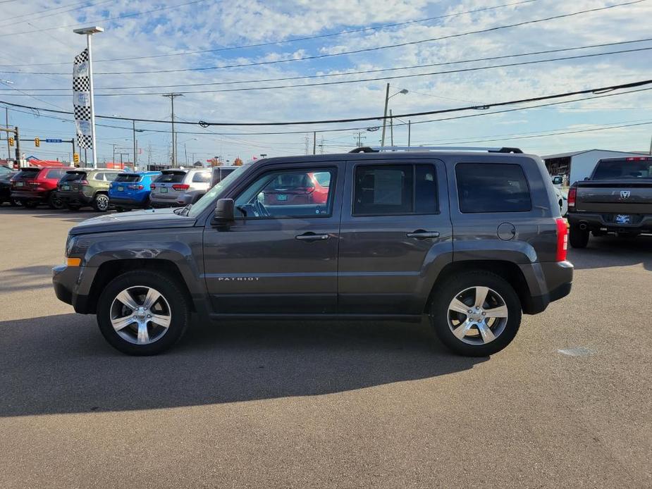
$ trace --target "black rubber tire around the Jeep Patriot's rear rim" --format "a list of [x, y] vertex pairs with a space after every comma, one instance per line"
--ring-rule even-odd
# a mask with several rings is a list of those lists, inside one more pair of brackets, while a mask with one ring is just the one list
[[[466, 297], [462, 295], [472, 293], [467, 292], [474, 287], [488, 287], [493, 292], [497, 292], [498, 296], [493, 292], [487, 296], [488, 300], [496, 300], [496, 304], [500, 304], [498, 299], [503, 299], [504, 306], [507, 308], [508, 317], [504, 318], [482, 318], [481, 321], [496, 321], [490, 326], [490, 330], [497, 332], [496, 338], [486, 343], [481, 341], [480, 330], [477, 326], [470, 328], [469, 335], [465, 340], [460, 340], [453, 334], [453, 323], [450, 321], [450, 314], [455, 314], [449, 311], [448, 306], [455, 298]], [[465, 299], [469, 300], [469, 299]], [[471, 305], [465, 307], [472, 307]], [[483, 304], [484, 307], [484, 304]], [[472, 310], [472, 309], [469, 309]], [[486, 311], [491, 311], [487, 308]], [[468, 319], [468, 314], [462, 314], [456, 318], [457, 321], [462, 321], [462, 318]], [[505, 348], [516, 336], [516, 333], [521, 324], [521, 301], [514, 290], [514, 287], [508, 283], [504, 278], [497, 276], [495, 273], [486, 271], [469, 271], [453, 276], [445, 280], [444, 283], [438, 284], [434, 291], [434, 299], [431, 304], [430, 321], [435, 330], [438, 338], [443, 344], [453, 352], [464, 355], [465, 357], [486, 357], [488, 355], [500, 352]], [[486, 323], [485, 323], [486, 325]], [[476, 342], [471, 344], [470, 342]]]

